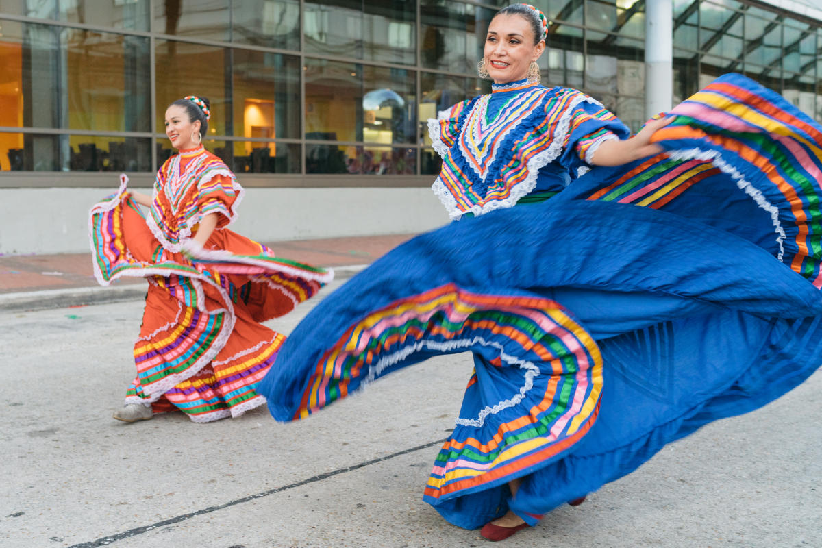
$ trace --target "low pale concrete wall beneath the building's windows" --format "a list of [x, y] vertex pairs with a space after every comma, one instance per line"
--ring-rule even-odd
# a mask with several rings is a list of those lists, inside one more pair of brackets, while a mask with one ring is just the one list
[[[115, 190], [0, 189], [0, 253], [89, 251], [88, 211]], [[247, 188], [239, 213], [232, 228], [260, 242], [418, 233], [448, 222], [430, 188]]]

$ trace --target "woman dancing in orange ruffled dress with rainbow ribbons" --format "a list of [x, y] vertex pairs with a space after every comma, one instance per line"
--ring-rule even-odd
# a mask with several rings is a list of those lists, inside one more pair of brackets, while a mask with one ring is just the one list
[[[127, 190], [90, 212], [91, 249], [101, 284], [148, 279], [137, 367], [120, 421], [178, 409], [192, 421], [238, 417], [265, 402], [254, 385], [285, 337], [261, 325], [312, 297], [332, 273], [281, 260], [227, 228], [243, 189], [201, 144], [208, 99], [179, 99], [165, 113], [178, 154], [163, 163], [152, 196]], [[142, 205], [141, 210], [137, 205]]]

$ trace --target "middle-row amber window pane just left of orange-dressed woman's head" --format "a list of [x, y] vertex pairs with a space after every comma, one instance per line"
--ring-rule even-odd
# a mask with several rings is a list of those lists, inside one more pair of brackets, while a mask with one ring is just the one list
[[149, 40], [64, 29], [68, 127], [150, 131]]

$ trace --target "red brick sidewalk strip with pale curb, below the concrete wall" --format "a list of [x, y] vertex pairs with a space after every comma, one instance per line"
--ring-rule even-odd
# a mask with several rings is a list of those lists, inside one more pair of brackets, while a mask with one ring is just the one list
[[[413, 234], [336, 237], [266, 242], [277, 256], [309, 265], [347, 270], [362, 268], [405, 242]], [[90, 253], [0, 256], [0, 310], [43, 310], [117, 302], [145, 294], [144, 279], [120, 279], [100, 287]]]

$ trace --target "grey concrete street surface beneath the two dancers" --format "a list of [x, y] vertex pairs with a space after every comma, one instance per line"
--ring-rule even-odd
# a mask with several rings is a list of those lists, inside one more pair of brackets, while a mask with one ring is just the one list
[[[331, 284], [326, 295], [339, 285]], [[321, 297], [271, 327], [289, 333]], [[141, 302], [0, 310], [0, 546], [489, 546], [421, 500], [470, 372], [399, 371], [306, 421], [110, 414]], [[822, 546], [822, 374], [503, 546]]]

